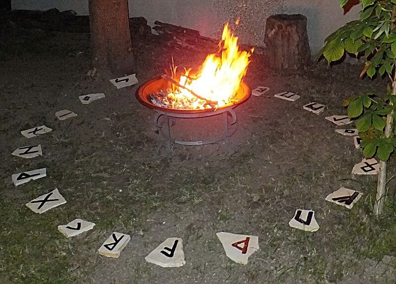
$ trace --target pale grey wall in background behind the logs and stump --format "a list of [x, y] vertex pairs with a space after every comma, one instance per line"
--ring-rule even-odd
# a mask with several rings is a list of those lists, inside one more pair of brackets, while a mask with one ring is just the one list
[[[337, 28], [356, 19], [358, 6], [346, 15], [339, 0], [129, 0], [130, 16], [143, 16], [148, 24], [155, 20], [197, 29], [201, 35], [217, 37], [225, 22], [247, 44], [263, 45], [265, 20], [276, 13], [300, 13], [307, 17], [307, 30], [313, 52]], [[73, 9], [88, 14], [88, 0], [12, 0], [13, 9]]]

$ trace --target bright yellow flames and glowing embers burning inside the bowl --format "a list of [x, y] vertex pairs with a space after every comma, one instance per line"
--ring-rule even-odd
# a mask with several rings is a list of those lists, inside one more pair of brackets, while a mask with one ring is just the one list
[[[251, 52], [241, 51], [238, 38], [224, 27], [219, 44], [221, 56], [206, 57], [198, 74], [190, 70], [177, 78], [174, 74], [172, 89], [152, 94], [152, 103], [175, 109], [218, 108], [233, 102], [240, 83], [246, 75]], [[174, 70], [173, 70], [174, 71]]]

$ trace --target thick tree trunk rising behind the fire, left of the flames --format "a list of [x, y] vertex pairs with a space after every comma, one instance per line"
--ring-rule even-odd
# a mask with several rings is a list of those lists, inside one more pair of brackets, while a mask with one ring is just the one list
[[89, 0], [93, 64], [116, 76], [134, 73], [128, 0]]

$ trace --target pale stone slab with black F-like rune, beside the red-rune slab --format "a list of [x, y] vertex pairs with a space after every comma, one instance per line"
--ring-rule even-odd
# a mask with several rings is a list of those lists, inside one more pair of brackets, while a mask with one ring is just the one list
[[180, 238], [168, 238], [158, 245], [148, 256], [147, 262], [162, 267], [180, 267], [186, 264], [184, 260], [183, 241]]

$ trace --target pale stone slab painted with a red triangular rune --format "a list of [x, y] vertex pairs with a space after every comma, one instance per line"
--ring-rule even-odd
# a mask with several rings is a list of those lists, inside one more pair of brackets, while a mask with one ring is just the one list
[[259, 249], [257, 236], [225, 232], [217, 233], [216, 236], [223, 245], [228, 258], [236, 263], [247, 264], [249, 256]]

